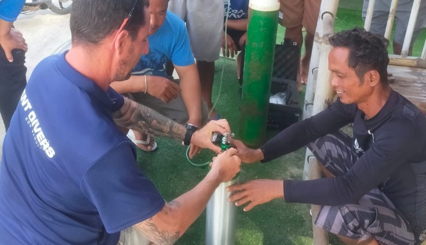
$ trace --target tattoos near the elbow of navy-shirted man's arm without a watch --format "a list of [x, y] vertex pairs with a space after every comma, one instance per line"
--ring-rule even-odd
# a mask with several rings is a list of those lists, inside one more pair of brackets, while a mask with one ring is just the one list
[[[164, 212], [164, 215], [169, 215], [169, 212], [172, 212], [172, 209], [180, 208], [181, 204], [178, 201], [171, 201], [168, 203], [169, 206], [166, 209], [160, 212]], [[161, 229], [157, 224], [153, 221], [154, 219], [151, 217], [146, 221], [142, 221], [141, 223], [135, 225], [134, 227], [141, 231], [145, 236], [151, 241], [153, 244], [161, 244], [161, 245], [171, 245], [174, 244], [181, 233], [179, 231], [168, 231], [167, 229]]]

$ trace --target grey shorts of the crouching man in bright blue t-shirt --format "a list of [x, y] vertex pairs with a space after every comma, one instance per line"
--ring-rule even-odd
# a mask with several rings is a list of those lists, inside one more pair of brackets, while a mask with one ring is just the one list
[[[179, 80], [174, 80], [174, 81], [179, 84]], [[177, 98], [171, 100], [167, 104], [159, 98], [156, 98], [152, 95], [144, 94], [144, 93], [132, 93], [132, 94], [126, 94], [126, 96], [144, 106], [147, 106], [157, 111], [158, 113], [166, 116], [167, 118], [177, 123], [184, 124], [184, 123], [187, 123], [189, 120], [187, 107], [180, 94]], [[207, 105], [204, 101], [202, 101], [201, 113], [202, 113], [202, 123], [204, 125], [207, 123], [207, 114], [208, 114]]]

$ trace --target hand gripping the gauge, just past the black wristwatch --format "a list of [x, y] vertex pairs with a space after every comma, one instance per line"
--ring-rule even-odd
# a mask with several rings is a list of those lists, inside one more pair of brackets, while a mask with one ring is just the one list
[[216, 153], [220, 153], [220, 147], [212, 143], [211, 138], [213, 132], [219, 132], [221, 134], [231, 133], [228, 121], [226, 121], [226, 119], [210, 121], [200, 130], [197, 130], [192, 134], [191, 145], [193, 144], [201, 148], [209, 148]]

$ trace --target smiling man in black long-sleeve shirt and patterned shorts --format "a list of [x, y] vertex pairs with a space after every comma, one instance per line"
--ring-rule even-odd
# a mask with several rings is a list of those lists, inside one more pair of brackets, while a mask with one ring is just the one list
[[[268, 162], [308, 145], [330, 178], [253, 180], [230, 187], [245, 211], [274, 198], [322, 205], [316, 224], [347, 244], [426, 239], [426, 120], [387, 81], [387, 40], [363, 29], [330, 38], [338, 99], [259, 149], [234, 141], [243, 162]], [[354, 123], [351, 138], [338, 131]], [[284, 192], [283, 192], [284, 190]]]

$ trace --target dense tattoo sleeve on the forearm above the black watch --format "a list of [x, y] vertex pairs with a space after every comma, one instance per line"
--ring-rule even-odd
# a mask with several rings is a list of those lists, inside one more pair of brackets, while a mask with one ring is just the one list
[[113, 118], [114, 122], [121, 127], [172, 139], [184, 140], [185, 138], [184, 125], [128, 98], [124, 98], [124, 105], [113, 113]]

